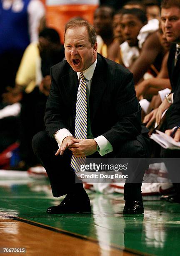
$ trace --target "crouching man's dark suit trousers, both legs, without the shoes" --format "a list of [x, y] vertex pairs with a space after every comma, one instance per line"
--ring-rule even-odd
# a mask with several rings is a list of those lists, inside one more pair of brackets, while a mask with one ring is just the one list
[[[72, 152], [65, 150], [62, 156], [55, 156], [58, 149], [58, 144], [55, 138], [48, 135], [46, 131], [37, 133], [32, 139], [32, 148], [40, 160], [40, 163], [46, 169], [50, 180], [52, 194], [54, 197], [60, 197], [78, 189], [82, 184], [75, 184], [75, 172], [70, 166]], [[98, 155], [97, 155], [98, 154]], [[91, 155], [91, 158], [101, 157], [99, 153]], [[122, 141], [121, 145], [109, 154], [102, 158], [133, 158], [134, 177], [137, 178], [133, 183], [125, 184], [124, 199], [141, 200], [141, 185], [145, 170], [148, 169], [148, 161], [141, 161], [140, 159], [148, 158], [150, 156], [150, 142], [148, 134], [140, 134], [135, 140]]]

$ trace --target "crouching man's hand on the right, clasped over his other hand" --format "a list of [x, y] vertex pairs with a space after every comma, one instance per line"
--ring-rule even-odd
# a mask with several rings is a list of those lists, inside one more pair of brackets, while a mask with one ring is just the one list
[[90, 156], [97, 151], [97, 143], [93, 139], [73, 140], [75, 143], [69, 149], [77, 157]]

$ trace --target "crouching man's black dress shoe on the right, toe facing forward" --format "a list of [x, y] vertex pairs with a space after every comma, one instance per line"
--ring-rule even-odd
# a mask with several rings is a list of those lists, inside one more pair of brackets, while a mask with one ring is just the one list
[[141, 214], [144, 213], [143, 201], [125, 202], [123, 214]]

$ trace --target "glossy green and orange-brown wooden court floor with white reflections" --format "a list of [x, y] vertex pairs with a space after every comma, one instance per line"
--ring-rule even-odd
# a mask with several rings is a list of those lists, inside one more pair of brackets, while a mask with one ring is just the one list
[[25, 247], [27, 255], [178, 255], [180, 205], [154, 197], [144, 201], [144, 215], [123, 216], [123, 195], [89, 197], [91, 214], [47, 215], [62, 200], [47, 179], [0, 170], [0, 247]]

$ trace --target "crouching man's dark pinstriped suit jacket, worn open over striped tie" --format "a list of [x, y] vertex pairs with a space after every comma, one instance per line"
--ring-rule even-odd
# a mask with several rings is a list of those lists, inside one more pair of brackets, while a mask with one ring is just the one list
[[[45, 129], [52, 136], [67, 128], [75, 133], [75, 110], [79, 86], [77, 73], [67, 61], [51, 68], [51, 89], [46, 104]], [[91, 131], [112, 144], [135, 139], [148, 129], [141, 125], [141, 108], [135, 95], [133, 74], [121, 65], [97, 55], [90, 90]]]

